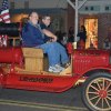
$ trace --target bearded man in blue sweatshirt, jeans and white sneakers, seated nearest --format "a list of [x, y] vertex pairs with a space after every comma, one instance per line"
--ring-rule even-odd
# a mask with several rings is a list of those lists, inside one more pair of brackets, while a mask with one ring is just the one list
[[[44, 41], [44, 38], [52, 39], [51, 42]], [[49, 30], [41, 29], [39, 24], [39, 14], [31, 12], [29, 20], [22, 28], [22, 46], [31, 48], [40, 48], [44, 53], [48, 53], [49, 72], [61, 72], [64, 70], [61, 64], [69, 63], [69, 57], [65, 49], [57, 42], [57, 37]]]

